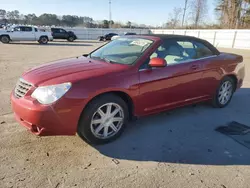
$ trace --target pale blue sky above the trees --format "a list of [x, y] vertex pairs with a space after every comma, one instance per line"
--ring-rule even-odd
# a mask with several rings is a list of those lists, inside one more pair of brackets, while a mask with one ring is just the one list
[[[188, 0], [191, 2], [192, 0]], [[19, 10], [23, 14], [54, 13], [109, 19], [109, 0], [0, 0], [0, 9]], [[185, 0], [112, 0], [112, 19], [126, 23], [162, 25], [174, 7], [184, 8]], [[206, 20], [214, 20], [214, 0], [208, 0]]]

